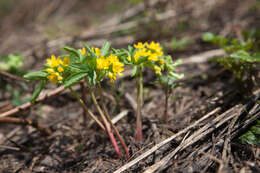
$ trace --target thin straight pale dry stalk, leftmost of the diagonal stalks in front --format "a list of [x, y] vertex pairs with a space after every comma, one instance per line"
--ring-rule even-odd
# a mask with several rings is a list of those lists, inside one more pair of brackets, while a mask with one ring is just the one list
[[129, 163], [125, 164], [124, 166], [122, 166], [121, 168], [119, 168], [118, 170], [116, 170], [114, 173], [120, 173], [125, 171], [126, 169], [130, 168], [131, 166], [133, 166], [134, 164], [138, 163], [139, 161], [143, 160], [144, 158], [148, 157], [149, 155], [151, 155], [152, 153], [154, 153], [155, 151], [157, 151], [159, 148], [161, 148], [162, 146], [168, 144], [169, 142], [171, 142], [173, 139], [175, 139], [176, 137], [186, 133], [188, 130], [190, 130], [191, 128], [196, 127], [197, 125], [199, 125], [199, 123], [201, 123], [202, 121], [204, 121], [205, 119], [209, 118], [210, 116], [216, 114], [217, 112], [219, 112], [221, 109], [219, 107], [217, 107], [216, 109], [214, 109], [213, 111], [209, 112], [208, 114], [206, 114], [205, 116], [203, 116], [201, 119], [197, 120], [196, 122], [194, 122], [192, 125], [186, 127], [185, 129], [181, 130], [180, 132], [178, 132], [177, 134], [167, 138], [166, 140], [158, 143], [157, 145], [155, 145], [154, 147], [152, 147], [151, 149], [149, 149], [148, 151], [146, 151], [145, 153], [143, 153], [142, 155], [140, 155], [139, 157], [137, 157], [136, 159], [130, 161]]

